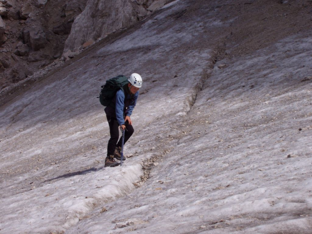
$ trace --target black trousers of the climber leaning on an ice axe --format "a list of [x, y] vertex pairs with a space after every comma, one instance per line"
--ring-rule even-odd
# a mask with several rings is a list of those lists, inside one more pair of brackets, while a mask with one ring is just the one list
[[[111, 116], [106, 115], [107, 121], [109, 122], [110, 126], [110, 134], [111, 138], [109, 140], [109, 144], [107, 145], [107, 156], [109, 157], [110, 155], [114, 154], [115, 148], [116, 147], [121, 147], [122, 144], [122, 137], [120, 137], [119, 141], [119, 124], [116, 118], [113, 118]], [[125, 130], [125, 139], [124, 139], [124, 144], [129, 140], [129, 138], [132, 136], [134, 133], [134, 128], [132, 125], [129, 125], [128, 121], [125, 123], [127, 130]], [[118, 143], [117, 143], [118, 142]]]

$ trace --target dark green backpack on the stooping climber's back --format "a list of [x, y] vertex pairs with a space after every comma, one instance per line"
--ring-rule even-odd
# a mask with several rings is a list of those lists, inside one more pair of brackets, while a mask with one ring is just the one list
[[123, 86], [127, 85], [129, 83], [128, 78], [119, 75], [117, 77], [111, 78], [106, 81], [105, 85], [101, 86], [101, 92], [100, 92], [100, 103], [103, 106], [109, 106], [112, 104], [111, 100], [115, 96], [116, 92], [119, 89], [122, 89], [123, 91]]

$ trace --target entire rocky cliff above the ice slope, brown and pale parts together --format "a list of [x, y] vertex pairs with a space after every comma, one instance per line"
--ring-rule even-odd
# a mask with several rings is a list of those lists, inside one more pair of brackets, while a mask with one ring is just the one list
[[0, 0], [0, 90], [66, 61], [171, 0]]

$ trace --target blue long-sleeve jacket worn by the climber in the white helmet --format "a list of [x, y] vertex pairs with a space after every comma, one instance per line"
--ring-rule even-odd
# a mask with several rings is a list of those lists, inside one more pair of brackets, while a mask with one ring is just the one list
[[131, 94], [128, 89], [128, 86], [124, 87], [124, 91], [119, 89], [112, 99], [112, 105], [105, 108], [105, 113], [116, 118], [119, 126], [125, 124], [126, 116], [131, 116], [139, 95], [138, 91], [135, 94]]

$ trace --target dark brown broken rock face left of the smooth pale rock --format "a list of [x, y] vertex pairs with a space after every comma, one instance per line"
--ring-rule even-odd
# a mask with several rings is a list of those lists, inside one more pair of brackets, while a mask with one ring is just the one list
[[0, 90], [60, 59], [87, 0], [0, 0]]

